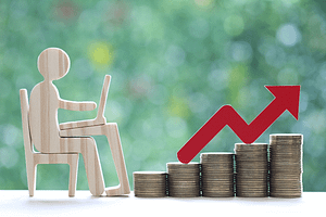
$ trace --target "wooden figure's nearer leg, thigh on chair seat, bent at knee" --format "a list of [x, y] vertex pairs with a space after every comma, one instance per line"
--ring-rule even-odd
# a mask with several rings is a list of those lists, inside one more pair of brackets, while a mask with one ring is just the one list
[[82, 153], [89, 191], [92, 195], [99, 196], [104, 192], [104, 180], [98, 155], [96, 142], [92, 138], [61, 138], [61, 153]]

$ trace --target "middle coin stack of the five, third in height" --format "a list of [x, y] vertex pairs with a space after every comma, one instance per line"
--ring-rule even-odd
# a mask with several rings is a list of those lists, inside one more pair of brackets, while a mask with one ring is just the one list
[[202, 196], [234, 196], [234, 153], [202, 153]]

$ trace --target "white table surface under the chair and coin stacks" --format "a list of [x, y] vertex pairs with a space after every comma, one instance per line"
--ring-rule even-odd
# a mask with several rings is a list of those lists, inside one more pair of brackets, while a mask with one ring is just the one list
[[326, 192], [303, 192], [299, 199], [142, 199], [135, 197], [134, 192], [128, 196], [95, 197], [89, 191], [77, 191], [75, 197], [68, 197], [67, 191], [37, 190], [29, 197], [27, 191], [1, 190], [0, 216], [324, 216], [325, 202]]

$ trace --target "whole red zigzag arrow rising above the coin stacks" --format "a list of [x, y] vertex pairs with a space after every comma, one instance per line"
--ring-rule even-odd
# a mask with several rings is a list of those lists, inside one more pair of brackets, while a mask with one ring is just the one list
[[286, 110], [298, 119], [300, 86], [265, 86], [275, 99], [249, 125], [230, 105], [222, 106], [178, 151], [188, 164], [226, 125], [243, 143], [254, 142]]

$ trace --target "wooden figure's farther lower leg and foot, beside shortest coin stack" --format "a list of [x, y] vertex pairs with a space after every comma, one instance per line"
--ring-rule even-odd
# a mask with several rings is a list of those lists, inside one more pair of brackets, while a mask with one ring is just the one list
[[120, 181], [120, 184], [117, 187], [105, 189], [105, 193], [109, 196], [128, 194], [130, 193], [130, 187], [129, 187], [117, 125], [115, 123], [112, 123], [110, 125], [105, 125], [104, 127], [105, 127], [105, 136], [110, 144], [117, 178]]

